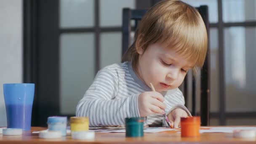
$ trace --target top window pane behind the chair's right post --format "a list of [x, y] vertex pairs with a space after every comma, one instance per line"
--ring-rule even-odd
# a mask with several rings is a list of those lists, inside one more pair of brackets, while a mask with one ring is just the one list
[[210, 23], [218, 22], [218, 3], [217, 0], [182, 0], [189, 5], [199, 7], [200, 5], [208, 5]]

